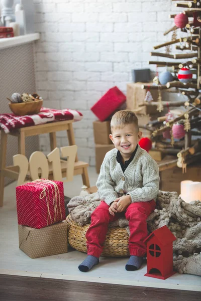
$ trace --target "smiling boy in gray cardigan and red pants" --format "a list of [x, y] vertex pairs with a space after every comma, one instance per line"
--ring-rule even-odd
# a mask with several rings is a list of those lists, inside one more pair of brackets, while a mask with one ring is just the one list
[[122, 110], [112, 117], [110, 139], [115, 148], [104, 158], [96, 182], [102, 202], [91, 214], [86, 232], [87, 257], [78, 266], [86, 272], [98, 264], [108, 225], [124, 214], [129, 221], [130, 258], [126, 270], [137, 270], [143, 262], [147, 237], [147, 217], [155, 209], [159, 191], [159, 169], [156, 162], [138, 142], [142, 137], [134, 112]]

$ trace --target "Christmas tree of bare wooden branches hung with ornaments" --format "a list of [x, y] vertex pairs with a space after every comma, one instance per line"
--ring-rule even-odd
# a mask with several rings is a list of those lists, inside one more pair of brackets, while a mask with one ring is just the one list
[[[154, 50], [164, 49], [164, 52], [150, 53], [151, 56], [174, 61], [149, 61], [149, 64], [166, 67], [168, 71], [155, 77], [153, 85], [142, 85], [142, 89], [149, 92], [157, 89], [158, 101], [145, 100], [139, 106], [156, 106], [156, 110], [161, 114], [164, 108], [168, 108], [167, 114], [164, 113], [157, 120], [150, 121], [145, 128], [151, 131], [155, 149], [175, 155], [175, 159], [159, 164], [160, 170], [177, 166], [184, 172], [186, 165], [201, 159], [201, 0], [177, 2], [176, 7], [187, 10], [169, 16], [174, 19], [174, 26], [166, 31], [164, 36], [173, 33], [171, 41], [154, 47]], [[171, 54], [173, 45], [180, 53]], [[162, 100], [163, 90], [181, 93], [185, 97], [183, 100], [166, 102]], [[149, 100], [150, 98], [149, 95]], [[181, 106], [182, 110], [179, 110]], [[169, 110], [169, 107], [176, 109]]]

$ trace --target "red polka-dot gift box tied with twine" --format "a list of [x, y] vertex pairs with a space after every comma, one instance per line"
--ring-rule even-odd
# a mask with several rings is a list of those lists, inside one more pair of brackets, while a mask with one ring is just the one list
[[35, 180], [16, 187], [18, 224], [40, 229], [65, 220], [63, 182]]

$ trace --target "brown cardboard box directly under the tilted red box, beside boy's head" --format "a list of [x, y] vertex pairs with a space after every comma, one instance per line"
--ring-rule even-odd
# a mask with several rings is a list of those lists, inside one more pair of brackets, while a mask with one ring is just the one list
[[93, 134], [95, 144], [112, 144], [109, 138], [111, 134], [110, 121], [93, 121]]

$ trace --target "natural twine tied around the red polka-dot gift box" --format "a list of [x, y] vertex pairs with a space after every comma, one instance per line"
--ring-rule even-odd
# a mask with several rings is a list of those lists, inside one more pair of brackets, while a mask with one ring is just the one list
[[[62, 217], [62, 213], [61, 213], [61, 205], [60, 205], [60, 193], [59, 193], [59, 188], [57, 186], [57, 184], [53, 181], [50, 180], [45, 180], [45, 179], [38, 179], [35, 180], [31, 183], [36, 183], [37, 185], [39, 185], [39, 187], [42, 187], [43, 190], [40, 193], [40, 200], [43, 200], [44, 198], [46, 199], [46, 204], [47, 204], [47, 226], [49, 225], [49, 219], [50, 219], [50, 224], [54, 224], [60, 221], [59, 219], [59, 211], [60, 211], [60, 215]], [[32, 187], [36, 187], [36, 185], [28, 185], [28, 186], [32, 186]], [[52, 222], [52, 217], [51, 217], [51, 213], [50, 213], [50, 192], [48, 190], [48, 187], [51, 188], [52, 191], [52, 197], [53, 197], [53, 207], [54, 207], [54, 221]], [[54, 190], [53, 190], [54, 187]], [[59, 203], [59, 210], [57, 207], [57, 200]], [[56, 218], [57, 216], [57, 218]]]

